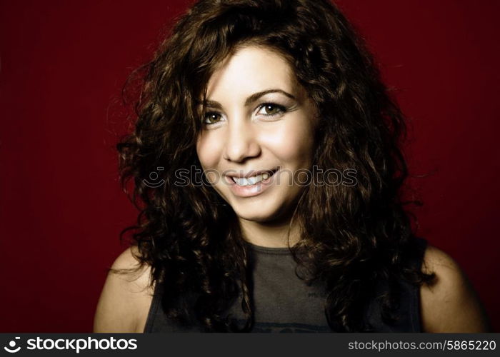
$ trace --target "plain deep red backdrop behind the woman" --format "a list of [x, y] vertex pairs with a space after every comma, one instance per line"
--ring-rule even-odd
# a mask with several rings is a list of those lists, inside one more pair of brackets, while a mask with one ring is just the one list
[[[139, 6], [140, 4], [140, 6]], [[421, 236], [464, 268], [500, 328], [495, 0], [339, 0], [411, 118]], [[89, 332], [133, 223], [119, 92], [186, 1], [0, 2], [1, 332]]]

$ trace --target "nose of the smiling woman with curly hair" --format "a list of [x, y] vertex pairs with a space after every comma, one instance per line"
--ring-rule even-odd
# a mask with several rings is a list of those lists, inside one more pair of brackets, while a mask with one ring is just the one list
[[224, 146], [224, 159], [241, 162], [247, 158], [259, 156], [261, 148], [255, 128], [248, 118], [229, 121]]

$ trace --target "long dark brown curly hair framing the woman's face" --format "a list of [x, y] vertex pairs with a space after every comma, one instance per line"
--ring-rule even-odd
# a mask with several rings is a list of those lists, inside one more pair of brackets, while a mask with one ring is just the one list
[[[398, 281], [419, 286], [434, 277], [411, 264], [421, 252], [401, 198], [404, 116], [360, 36], [329, 0], [200, 0], [176, 19], [154, 59], [132, 75], [141, 84], [136, 120], [117, 149], [121, 183], [127, 191], [133, 182], [127, 192], [140, 213], [121, 238], [132, 231], [136, 258], [151, 267], [172, 321], [203, 331], [251, 330], [249, 248], [236, 213], [208, 183], [176, 184], [179, 170], [201, 169], [199, 99], [211, 74], [246, 45], [284, 56], [316, 104], [313, 164], [356, 170], [356, 186], [301, 191], [292, 218], [301, 240], [290, 247], [297, 266], [311, 272], [304, 279], [326, 286], [332, 330], [370, 331], [362, 312], [376, 281], [389, 287], [381, 317], [394, 323]], [[151, 172], [161, 185], [148, 183]], [[235, 301], [243, 327], [226, 316]]]

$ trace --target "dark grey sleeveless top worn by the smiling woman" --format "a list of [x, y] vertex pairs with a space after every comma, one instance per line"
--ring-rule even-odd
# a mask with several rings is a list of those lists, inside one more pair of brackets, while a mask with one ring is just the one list
[[[418, 238], [421, 255], [412, 262], [420, 267], [426, 241]], [[288, 248], [268, 248], [247, 243], [254, 261], [253, 294], [255, 323], [251, 332], [331, 332], [324, 313], [326, 291], [319, 285], [307, 286], [295, 275], [296, 263]], [[419, 288], [400, 282], [399, 321], [387, 325], [381, 320], [378, 301], [372, 299], [364, 318], [375, 332], [421, 332]], [[379, 284], [376, 296], [384, 293]], [[229, 309], [240, 326], [244, 325], [241, 300]], [[156, 286], [144, 332], [201, 332], [199, 327], [181, 327], [170, 321], [161, 306], [161, 294]]]

